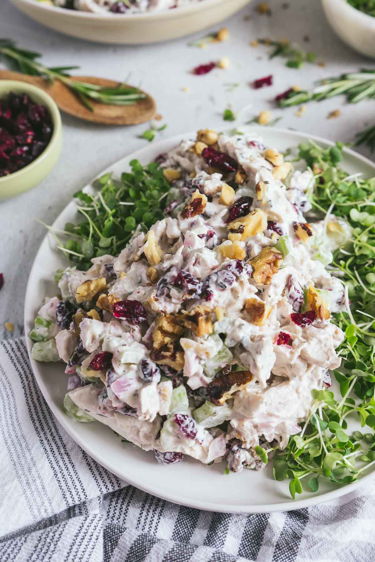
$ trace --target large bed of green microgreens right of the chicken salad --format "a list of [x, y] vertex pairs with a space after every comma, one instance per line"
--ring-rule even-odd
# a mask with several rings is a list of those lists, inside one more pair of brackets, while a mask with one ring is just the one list
[[[301, 433], [277, 450], [274, 478], [290, 478], [293, 498], [301, 479], [316, 492], [319, 479], [336, 484], [354, 482], [375, 463], [375, 178], [349, 176], [338, 167], [342, 144], [322, 148], [313, 141], [299, 145], [302, 158], [314, 170], [315, 187], [310, 194], [313, 211], [333, 212], [351, 225], [349, 245], [339, 248], [329, 266], [345, 286], [346, 310], [332, 322], [345, 332], [338, 347], [342, 364], [335, 370], [341, 398], [331, 391], [311, 392], [309, 417]], [[350, 304], [349, 304], [350, 298]], [[359, 399], [355, 400], [351, 393]], [[358, 419], [366, 433], [347, 432], [347, 420]], [[365, 464], [364, 464], [365, 463]]]

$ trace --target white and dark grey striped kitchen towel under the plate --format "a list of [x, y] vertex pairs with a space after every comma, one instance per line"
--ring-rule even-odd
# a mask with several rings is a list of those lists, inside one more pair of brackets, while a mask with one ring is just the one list
[[170, 504], [76, 445], [44, 402], [23, 339], [0, 342], [0, 377], [1, 562], [375, 560], [375, 484], [287, 513]]

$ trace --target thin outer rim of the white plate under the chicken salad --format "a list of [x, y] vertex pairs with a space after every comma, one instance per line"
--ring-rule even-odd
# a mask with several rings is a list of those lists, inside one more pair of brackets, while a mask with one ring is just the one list
[[[325, 146], [335, 146], [335, 142], [333, 142], [332, 140], [328, 140], [328, 139], [324, 139], [322, 137], [319, 137], [318, 135], [311, 135], [308, 133], [302, 133], [299, 132], [297, 130], [292, 130], [292, 129], [286, 129], [286, 128], [278, 128], [278, 127], [265, 127], [265, 126], [256, 126], [256, 127], [246, 127], [244, 128], [246, 131], [247, 130], [254, 130], [255, 132], [259, 132], [259, 134], [261, 135], [262, 131], [265, 131], [266, 134], [272, 134], [272, 132], [278, 133], [278, 134], [288, 134], [288, 135], [292, 135], [292, 137], [296, 137], [296, 140], [298, 140], [298, 142], [301, 142], [301, 138], [302, 139], [306, 139], [306, 140], [314, 140], [317, 143], [323, 144]], [[229, 133], [230, 130], [227, 132]], [[189, 132], [189, 133], [182, 133], [179, 135], [174, 135], [173, 137], [170, 138], [166, 138], [163, 140], [159, 140], [159, 142], [153, 144], [153, 147], [155, 147], [155, 152], [157, 152], [157, 147], [158, 146], [162, 146], [164, 144], [168, 144], [168, 143], [175, 143], [178, 144], [181, 140], [184, 139], [188, 139], [190, 137], [194, 137], [194, 135], [196, 134], [196, 131], [193, 132]], [[153, 148], [152, 147], [152, 148]], [[88, 187], [89, 185], [92, 185], [94, 183], [94, 181], [100, 177], [103, 174], [106, 174], [108, 172], [110, 172], [114, 166], [119, 165], [121, 162], [123, 162], [124, 160], [129, 160], [130, 157], [133, 158], [142, 158], [142, 154], [143, 153], [147, 153], [150, 152], [150, 146], [146, 146], [143, 148], [139, 148], [134, 152], [130, 152], [128, 155], [123, 156], [122, 158], [119, 158], [119, 160], [115, 161], [113, 164], [111, 164], [110, 166], [108, 166], [105, 170], [103, 170], [100, 174], [98, 174], [97, 176], [95, 176], [95, 178], [93, 178], [93, 180], [88, 183], [85, 187]], [[363, 164], [371, 167], [374, 170], [374, 175], [375, 175], [375, 163], [372, 162], [371, 160], [369, 160], [369, 158], [359, 154], [358, 152], [355, 152], [353, 149], [351, 148], [347, 148], [344, 147], [342, 149], [342, 151], [347, 154], [348, 156], [354, 157], [356, 160], [359, 160], [361, 162], [363, 162]], [[162, 150], [161, 150], [162, 152]], [[345, 160], [345, 158], [344, 158]], [[125, 166], [125, 164], [124, 164]], [[84, 188], [82, 188], [84, 189]], [[74, 201], [70, 201], [65, 207], [64, 209], [60, 212], [60, 214], [58, 214], [58, 216], [56, 217], [56, 219], [53, 221], [53, 225], [55, 225], [55, 223], [60, 219], [61, 215], [63, 213], [65, 213], [65, 211], [69, 208], [69, 207], [73, 207], [74, 206]], [[75, 429], [73, 429], [72, 427], [70, 427], [69, 424], [66, 424], [66, 415], [60, 410], [58, 409], [58, 406], [55, 404], [55, 402], [52, 400], [51, 397], [49, 397], [49, 391], [48, 388], [46, 386], [46, 384], [43, 381], [43, 377], [42, 374], [39, 373], [39, 367], [38, 367], [38, 362], [34, 361], [33, 359], [31, 359], [31, 340], [28, 337], [28, 312], [29, 312], [29, 293], [31, 292], [31, 278], [34, 277], [34, 273], [35, 270], [37, 269], [37, 262], [38, 262], [38, 257], [39, 254], [42, 252], [42, 247], [44, 246], [45, 243], [48, 243], [48, 234], [49, 232], [46, 233], [46, 235], [44, 236], [42, 242], [39, 245], [38, 251], [35, 254], [34, 260], [33, 260], [33, 265], [31, 266], [31, 270], [30, 270], [30, 274], [29, 274], [29, 278], [28, 278], [28, 284], [26, 287], [26, 294], [25, 294], [25, 306], [24, 306], [24, 331], [25, 331], [25, 339], [26, 339], [26, 347], [28, 350], [28, 354], [29, 354], [29, 360], [30, 360], [30, 365], [31, 365], [31, 370], [33, 371], [33, 375], [35, 377], [35, 380], [37, 381], [38, 387], [40, 389], [40, 391], [42, 392], [42, 395], [44, 397], [44, 400], [46, 400], [49, 408], [51, 409], [53, 415], [55, 416], [55, 418], [57, 419], [57, 421], [62, 425], [62, 427], [64, 428], [64, 430], [70, 435], [70, 437], [75, 441], [75, 443], [77, 443], [79, 445], [79, 447], [81, 447], [85, 452], [87, 452], [88, 455], [90, 455], [98, 464], [100, 464], [101, 466], [103, 466], [104, 468], [106, 468], [107, 470], [109, 470], [109, 472], [111, 472], [112, 474], [115, 474], [116, 476], [118, 476], [121, 480], [124, 480], [124, 475], [120, 474], [118, 471], [114, 470], [113, 468], [111, 468], [110, 463], [107, 463], [107, 461], [105, 459], [101, 459], [100, 458], [100, 454], [97, 454], [96, 450], [89, 445], [88, 443], [86, 443], [83, 439], [83, 437], [81, 437], [79, 435], [79, 432], [76, 432]], [[181, 501], [181, 499], [179, 499], [178, 497], [176, 497], [176, 495], [174, 493], [158, 493], [158, 491], [154, 490], [152, 487], [152, 484], [147, 485], [144, 483], [140, 483], [137, 481], [137, 478], [132, 477], [132, 474], [129, 471], [129, 477], [126, 476], [125, 478], [125, 482], [128, 484], [131, 484], [132, 486], [134, 486], [135, 488], [138, 488], [139, 490], [142, 490], [146, 493], [150, 493], [152, 496], [156, 496], [161, 498], [162, 500], [166, 500], [166, 501], [170, 501], [174, 504], [178, 504], [178, 505], [184, 505], [187, 507], [192, 507], [194, 509], [200, 509], [200, 510], [204, 510], [204, 511], [214, 511], [214, 512], [218, 512], [218, 513], [242, 513], [242, 514], [255, 514], [255, 513], [277, 513], [279, 511], [292, 511], [295, 509], [302, 509], [304, 507], [310, 507], [313, 505], [318, 505], [318, 504], [323, 504], [329, 500], [334, 500], [338, 497], [344, 496], [347, 493], [353, 492], [354, 490], [357, 490], [359, 487], [364, 486], [364, 484], [368, 483], [369, 481], [371, 481], [373, 478], [375, 478], [375, 469], [369, 473], [364, 475], [362, 478], [358, 479], [357, 481], [351, 483], [351, 484], [346, 484], [345, 486], [338, 486], [336, 488], [336, 490], [332, 490], [329, 492], [325, 492], [322, 495], [319, 496], [310, 496], [307, 498], [301, 498], [301, 499], [297, 499], [297, 500], [288, 500], [285, 502], [280, 502], [277, 504], [270, 504], [270, 505], [266, 505], [266, 504], [259, 504], [259, 505], [241, 505], [238, 506], [236, 504], [220, 504], [220, 502], [210, 502], [210, 501], [186, 501], [183, 500]], [[150, 479], [150, 482], [152, 482], [152, 479]]]

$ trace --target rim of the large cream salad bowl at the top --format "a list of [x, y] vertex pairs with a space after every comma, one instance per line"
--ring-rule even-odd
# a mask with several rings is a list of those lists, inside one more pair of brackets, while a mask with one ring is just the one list
[[[67, 10], [67, 8], [60, 8], [58, 6], [49, 6], [44, 2], [38, 2], [37, 0], [17, 0], [17, 2], [22, 2], [24, 4], [29, 4], [30, 6], [35, 7], [37, 10], [53, 10], [53, 13], [61, 13], [67, 17], [80, 17], [82, 19], [89, 19], [89, 20], [112, 20], [112, 21], [126, 21], [132, 19], [133, 21], [142, 21], [147, 19], [175, 19], [184, 13], [194, 13], [200, 12], [201, 10], [208, 9], [210, 6], [214, 4], [221, 4], [227, 2], [228, 0], [202, 0], [197, 4], [189, 4], [188, 6], [182, 6], [180, 8], [176, 8], [175, 10], [160, 10], [160, 11], [150, 11], [144, 13], [111, 13], [111, 12], [103, 12], [103, 13], [94, 13], [94, 12], [85, 12], [80, 10]], [[230, 0], [229, 0], [230, 1]], [[250, 1], [250, 0], [249, 0]], [[357, 10], [358, 11], [358, 10]]]

